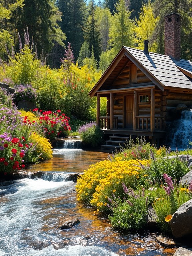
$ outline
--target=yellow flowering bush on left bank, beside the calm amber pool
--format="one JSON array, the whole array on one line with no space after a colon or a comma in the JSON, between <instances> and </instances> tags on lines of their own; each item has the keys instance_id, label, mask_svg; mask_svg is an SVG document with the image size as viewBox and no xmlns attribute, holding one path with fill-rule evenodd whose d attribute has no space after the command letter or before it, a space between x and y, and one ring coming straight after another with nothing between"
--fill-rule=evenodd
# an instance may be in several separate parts
<instances>
[{"instance_id":1,"label":"yellow flowering bush on left bank, beside the calm amber pool","mask_svg":"<svg viewBox=\"0 0 192 256\"><path fill-rule=\"evenodd\" d=\"M43 138L37 133L32 133L30 136L30 140L33 144L36 145L36 153L40 155L42 160L51 159L52 155L52 146L47 138Z\"/></svg>"}]
</instances>

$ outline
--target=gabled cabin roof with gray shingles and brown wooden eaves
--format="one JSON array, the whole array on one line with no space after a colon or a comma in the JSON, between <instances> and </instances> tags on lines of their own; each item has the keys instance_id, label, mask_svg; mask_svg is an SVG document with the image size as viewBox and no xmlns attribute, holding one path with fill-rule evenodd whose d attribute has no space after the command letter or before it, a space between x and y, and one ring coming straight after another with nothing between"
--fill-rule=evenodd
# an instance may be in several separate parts
<instances>
[{"instance_id":1,"label":"gabled cabin roof with gray shingles and brown wooden eaves","mask_svg":"<svg viewBox=\"0 0 192 256\"><path fill-rule=\"evenodd\" d=\"M175 61L169 56L123 46L97 84L89 92L94 96L102 86L110 86L128 61L133 62L162 91L166 87L192 90L192 62ZM168 89L168 88L167 88Z\"/></svg>"}]
</instances>

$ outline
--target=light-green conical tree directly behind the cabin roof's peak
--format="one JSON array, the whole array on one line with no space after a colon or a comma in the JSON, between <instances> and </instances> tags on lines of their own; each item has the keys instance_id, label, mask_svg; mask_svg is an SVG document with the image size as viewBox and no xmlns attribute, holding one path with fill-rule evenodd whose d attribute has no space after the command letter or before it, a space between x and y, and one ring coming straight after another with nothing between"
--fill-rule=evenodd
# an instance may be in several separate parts
<instances>
[{"instance_id":1,"label":"light-green conical tree directly behind the cabin roof's peak","mask_svg":"<svg viewBox=\"0 0 192 256\"><path fill-rule=\"evenodd\" d=\"M112 19L112 27L109 33L109 42L116 53L123 45L133 46L133 26L130 12L127 11L125 6L125 0L120 0L116 5L116 13Z\"/></svg>"}]
</instances>

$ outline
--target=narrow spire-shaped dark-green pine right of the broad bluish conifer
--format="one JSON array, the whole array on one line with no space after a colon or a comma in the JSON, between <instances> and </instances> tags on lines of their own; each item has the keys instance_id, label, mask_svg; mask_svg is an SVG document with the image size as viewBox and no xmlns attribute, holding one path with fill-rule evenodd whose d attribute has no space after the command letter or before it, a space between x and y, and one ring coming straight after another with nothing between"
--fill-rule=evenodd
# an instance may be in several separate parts
<instances>
[{"instance_id":1,"label":"narrow spire-shaped dark-green pine right of the broad bluish conifer","mask_svg":"<svg viewBox=\"0 0 192 256\"><path fill-rule=\"evenodd\" d=\"M89 11L91 14L89 15L87 20L87 27L85 30L85 40L89 45L90 51L92 50L92 46L93 46L95 59L97 60L97 62L99 62L100 53L101 53L101 46L100 46L101 39L100 39L100 33L98 31L98 26L95 20L94 0L90 1L89 8L90 8Z\"/></svg>"}]
</instances>

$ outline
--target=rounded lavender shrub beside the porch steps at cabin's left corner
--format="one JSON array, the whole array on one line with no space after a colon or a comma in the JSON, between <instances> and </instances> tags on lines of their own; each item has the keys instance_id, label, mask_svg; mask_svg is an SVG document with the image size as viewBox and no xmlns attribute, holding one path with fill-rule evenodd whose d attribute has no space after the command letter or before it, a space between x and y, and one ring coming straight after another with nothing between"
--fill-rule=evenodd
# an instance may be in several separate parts
<instances>
[{"instance_id":1,"label":"rounded lavender shrub beside the porch steps at cabin's left corner","mask_svg":"<svg viewBox=\"0 0 192 256\"><path fill-rule=\"evenodd\" d=\"M97 127L95 122L86 123L81 125L78 129L80 137L84 144L95 147L102 143L103 133Z\"/></svg>"}]
</instances>

